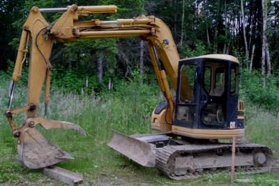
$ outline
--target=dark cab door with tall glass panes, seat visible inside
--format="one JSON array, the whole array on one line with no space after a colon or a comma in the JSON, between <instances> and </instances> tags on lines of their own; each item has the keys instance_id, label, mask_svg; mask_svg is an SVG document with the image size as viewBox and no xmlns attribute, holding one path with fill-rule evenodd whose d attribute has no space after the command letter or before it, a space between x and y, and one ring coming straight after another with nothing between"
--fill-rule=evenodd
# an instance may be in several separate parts
<instances>
[{"instance_id":1,"label":"dark cab door with tall glass panes, seat visible inside","mask_svg":"<svg viewBox=\"0 0 279 186\"><path fill-rule=\"evenodd\" d=\"M199 129L226 128L228 62L204 59L199 102Z\"/></svg>"}]
</instances>

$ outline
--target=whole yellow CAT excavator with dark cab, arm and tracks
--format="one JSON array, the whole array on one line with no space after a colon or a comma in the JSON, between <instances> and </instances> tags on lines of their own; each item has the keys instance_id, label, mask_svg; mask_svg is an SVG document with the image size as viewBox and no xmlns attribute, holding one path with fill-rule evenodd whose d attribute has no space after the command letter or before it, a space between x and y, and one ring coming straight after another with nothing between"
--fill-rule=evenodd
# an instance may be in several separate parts
<instances>
[{"instance_id":1,"label":"whole yellow CAT excavator with dark cab, arm and tracks","mask_svg":"<svg viewBox=\"0 0 279 186\"><path fill-rule=\"evenodd\" d=\"M139 37L148 44L160 91L165 96L151 116L156 134L131 136L112 131L108 144L142 166L156 166L169 178L201 176L232 165L232 143L218 140L244 136L244 103L239 100L239 61L231 55L204 55L180 59L167 25L157 17L140 15L131 19L80 21L96 13L116 13L116 6L31 8L22 27L15 69L10 85L6 117L17 138L17 152L29 169L40 169L73 159L48 141L36 127L86 132L77 124L47 119L50 102L50 55L54 41ZM49 24L42 13L63 12ZM28 55L29 54L29 55ZM13 108L15 85L29 57L27 105ZM170 86L173 90L171 90ZM36 115L45 88L45 117ZM172 92L176 94L173 95ZM13 115L26 113L17 127ZM271 150L259 144L236 144L236 167L242 173L269 171Z\"/></svg>"}]
</instances>

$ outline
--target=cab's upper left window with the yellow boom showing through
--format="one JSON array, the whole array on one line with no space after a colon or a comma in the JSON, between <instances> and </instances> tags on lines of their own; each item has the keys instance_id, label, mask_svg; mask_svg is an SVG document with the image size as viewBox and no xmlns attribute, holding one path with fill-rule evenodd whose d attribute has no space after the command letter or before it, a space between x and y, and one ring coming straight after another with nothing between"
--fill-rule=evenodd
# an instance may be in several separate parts
<instances>
[{"instance_id":1,"label":"cab's upper left window with the yellow boom showing through","mask_svg":"<svg viewBox=\"0 0 279 186\"><path fill-rule=\"evenodd\" d=\"M179 101L185 102L193 99L193 91L195 90L197 63L188 63L181 66L181 85Z\"/></svg>"}]
</instances>

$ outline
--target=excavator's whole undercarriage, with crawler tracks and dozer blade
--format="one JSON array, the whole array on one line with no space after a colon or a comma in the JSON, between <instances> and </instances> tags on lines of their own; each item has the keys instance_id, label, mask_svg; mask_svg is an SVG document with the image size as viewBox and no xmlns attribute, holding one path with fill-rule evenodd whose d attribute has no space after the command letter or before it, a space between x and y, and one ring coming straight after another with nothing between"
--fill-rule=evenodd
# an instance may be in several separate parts
<instances>
[{"instance_id":1,"label":"excavator's whole undercarriage, with crawler tracks and dozer blade","mask_svg":"<svg viewBox=\"0 0 279 186\"><path fill-rule=\"evenodd\" d=\"M123 141L125 145L121 145ZM109 145L143 166L156 166L160 172L175 180L230 173L232 168L232 143L197 140L174 134L126 136L113 131ZM235 152L235 174L271 170L273 154L266 146L236 143ZM146 165L143 162L149 163Z\"/></svg>"}]
</instances>

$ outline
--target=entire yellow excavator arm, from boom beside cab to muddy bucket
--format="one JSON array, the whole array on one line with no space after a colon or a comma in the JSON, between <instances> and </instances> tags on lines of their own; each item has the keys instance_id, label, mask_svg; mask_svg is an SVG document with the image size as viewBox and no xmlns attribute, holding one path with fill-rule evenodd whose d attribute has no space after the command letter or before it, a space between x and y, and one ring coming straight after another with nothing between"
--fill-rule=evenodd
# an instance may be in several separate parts
<instances>
[{"instance_id":1,"label":"entire yellow excavator arm, from boom beside cab to muddy bucket","mask_svg":"<svg viewBox=\"0 0 279 186\"><path fill-rule=\"evenodd\" d=\"M59 11L65 13L54 24L49 24L41 14L41 12ZM169 90L166 73L169 76L172 87L176 90L179 55L169 28L162 20L154 16L146 17L144 15L133 19L78 20L79 16L86 16L90 13L116 13L116 6L73 5L67 8L43 9L33 7L30 10L29 17L27 17L27 21L24 23L10 86L10 99L6 116L13 135L18 138L18 154L24 164L31 169L43 168L72 159L66 152L47 141L35 128L37 124L45 129L73 129L77 133L85 135L85 131L77 124L45 119L47 104L50 101L50 76L52 70L50 55L54 40L69 43L78 39L140 37L142 40L147 41L160 90L167 99L168 123L172 123L174 100ZM24 64L28 53L30 53L30 64L27 106L13 109L15 83L20 80L22 64ZM38 117L36 113L44 83L45 117ZM186 96L191 94L189 85L183 87L183 89L185 89ZM17 127L13 115L21 112L26 112L27 118L20 127Z\"/></svg>"}]
</instances>

